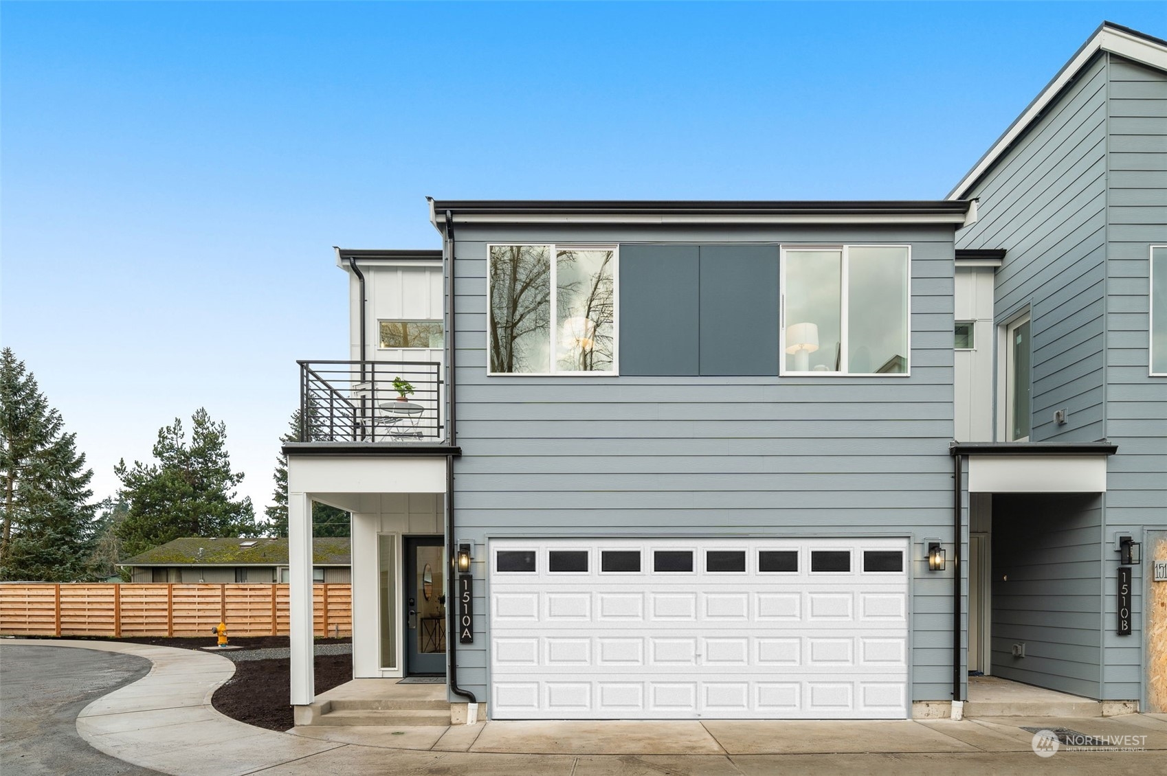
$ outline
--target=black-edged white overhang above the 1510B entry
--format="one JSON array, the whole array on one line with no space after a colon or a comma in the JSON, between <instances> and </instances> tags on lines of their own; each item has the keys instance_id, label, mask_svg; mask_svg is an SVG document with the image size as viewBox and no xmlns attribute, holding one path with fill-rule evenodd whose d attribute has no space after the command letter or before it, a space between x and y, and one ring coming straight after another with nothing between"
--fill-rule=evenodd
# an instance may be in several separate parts
<instances>
[{"instance_id":1,"label":"black-edged white overhang above the 1510B entry","mask_svg":"<svg viewBox=\"0 0 1167 776\"><path fill-rule=\"evenodd\" d=\"M953 442L969 459L970 494L1106 492L1111 442Z\"/></svg>"}]
</instances>

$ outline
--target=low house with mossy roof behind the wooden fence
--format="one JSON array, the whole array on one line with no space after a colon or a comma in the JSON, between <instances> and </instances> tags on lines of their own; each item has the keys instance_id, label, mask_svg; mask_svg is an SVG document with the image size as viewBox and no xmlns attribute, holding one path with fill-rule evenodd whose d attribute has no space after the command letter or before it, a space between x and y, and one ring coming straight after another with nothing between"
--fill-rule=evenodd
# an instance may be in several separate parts
<instances>
[{"instance_id":1,"label":"low house with mossy roof behind the wooden fence","mask_svg":"<svg viewBox=\"0 0 1167 776\"><path fill-rule=\"evenodd\" d=\"M287 539L183 537L118 564L132 582L287 582ZM312 581L348 582L349 540L313 539Z\"/></svg>"}]
</instances>

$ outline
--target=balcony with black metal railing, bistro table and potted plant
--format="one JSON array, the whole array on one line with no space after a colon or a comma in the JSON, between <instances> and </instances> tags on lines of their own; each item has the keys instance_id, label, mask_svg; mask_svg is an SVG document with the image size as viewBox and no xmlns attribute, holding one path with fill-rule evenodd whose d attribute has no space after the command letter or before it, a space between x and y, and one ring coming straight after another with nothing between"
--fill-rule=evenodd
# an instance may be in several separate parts
<instances>
[{"instance_id":1,"label":"balcony with black metal railing, bistro table and potted plant","mask_svg":"<svg viewBox=\"0 0 1167 776\"><path fill-rule=\"evenodd\" d=\"M446 438L442 425L446 393L439 362L296 363L300 365L299 441L432 445Z\"/></svg>"}]
</instances>

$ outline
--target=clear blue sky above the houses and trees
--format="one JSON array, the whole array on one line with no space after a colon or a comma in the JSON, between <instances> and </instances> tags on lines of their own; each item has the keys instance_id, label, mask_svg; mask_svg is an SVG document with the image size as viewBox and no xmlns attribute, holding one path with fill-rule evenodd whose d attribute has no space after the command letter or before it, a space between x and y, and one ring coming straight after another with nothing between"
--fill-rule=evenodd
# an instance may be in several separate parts
<instances>
[{"instance_id":1,"label":"clear blue sky above the houses and trees","mask_svg":"<svg viewBox=\"0 0 1167 776\"><path fill-rule=\"evenodd\" d=\"M268 503L331 245L446 198L942 198L1162 2L0 5L0 342L113 492L205 406Z\"/></svg>"}]
</instances>

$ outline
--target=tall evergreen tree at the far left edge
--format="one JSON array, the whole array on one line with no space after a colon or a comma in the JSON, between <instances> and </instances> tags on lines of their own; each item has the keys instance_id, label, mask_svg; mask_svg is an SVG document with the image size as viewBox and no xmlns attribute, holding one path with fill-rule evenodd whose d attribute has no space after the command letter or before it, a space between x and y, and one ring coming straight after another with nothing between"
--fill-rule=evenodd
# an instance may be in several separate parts
<instances>
[{"instance_id":1,"label":"tall evergreen tree at the far left edge","mask_svg":"<svg viewBox=\"0 0 1167 776\"><path fill-rule=\"evenodd\" d=\"M0 352L0 579L89 578L93 470L64 433L36 378L11 348Z\"/></svg>"}]
</instances>

